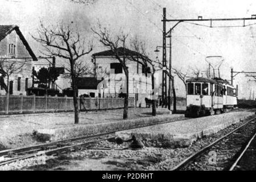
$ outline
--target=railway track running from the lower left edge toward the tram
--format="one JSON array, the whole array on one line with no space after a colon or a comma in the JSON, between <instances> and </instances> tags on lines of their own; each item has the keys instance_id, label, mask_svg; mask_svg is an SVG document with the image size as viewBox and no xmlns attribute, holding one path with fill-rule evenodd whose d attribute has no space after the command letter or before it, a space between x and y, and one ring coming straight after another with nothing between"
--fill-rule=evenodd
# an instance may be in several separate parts
<instances>
[{"instance_id":1,"label":"railway track running from the lower left edge toward the tram","mask_svg":"<svg viewBox=\"0 0 256 182\"><path fill-rule=\"evenodd\" d=\"M237 110L234 110L237 111ZM145 126L159 125L163 123L169 123L174 121L182 121L190 118L180 117L173 119L172 121L162 121L162 122L152 122L146 125L139 125L136 127L131 127L129 129L137 129ZM62 152L72 152L76 150L82 150L90 147L92 144L99 142L101 140L113 139L117 131L123 131L128 129L120 129L115 131L110 131L107 133L101 133L91 136L78 137L66 140L57 140L55 142L49 142L44 144L37 144L30 147L21 147L9 150L0 151L0 166L5 164L17 162L18 160L34 158L40 155L54 155L60 154Z\"/></svg>"}]
</instances>

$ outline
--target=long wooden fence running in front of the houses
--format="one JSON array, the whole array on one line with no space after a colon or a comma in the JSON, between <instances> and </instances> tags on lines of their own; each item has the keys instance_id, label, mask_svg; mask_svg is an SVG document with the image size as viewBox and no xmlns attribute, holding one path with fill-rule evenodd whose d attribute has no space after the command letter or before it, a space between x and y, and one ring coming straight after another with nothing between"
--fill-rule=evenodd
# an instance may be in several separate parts
<instances>
[{"instance_id":1,"label":"long wooden fence running in front of the houses","mask_svg":"<svg viewBox=\"0 0 256 182\"><path fill-rule=\"evenodd\" d=\"M105 110L124 107L124 98L78 98L79 110ZM134 98L129 98L134 107ZM74 111L72 97L0 96L0 114Z\"/></svg>"}]
</instances>

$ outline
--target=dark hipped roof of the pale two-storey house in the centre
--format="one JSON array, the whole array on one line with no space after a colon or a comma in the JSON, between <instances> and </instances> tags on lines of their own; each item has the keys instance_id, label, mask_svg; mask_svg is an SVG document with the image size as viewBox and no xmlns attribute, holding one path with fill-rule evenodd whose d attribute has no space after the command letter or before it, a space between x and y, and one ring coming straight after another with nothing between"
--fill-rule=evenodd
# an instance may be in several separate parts
<instances>
[{"instance_id":1,"label":"dark hipped roof of the pale two-storey house in the centre","mask_svg":"<svg viewBox=\"0 0 256 182\"><path fill-rule=\"evenodd\" d=\"M127 48L123 48L123 47L119 47L117 48L117 53L120 56L137 56L140 55L140 53L135 52L135 51L131 51L130 49ZM102 52L96 52L94 53L92 56L115 56L113 51L111 49L107 50L107 51L102 51Z\"/></svg>"}]
</instances>

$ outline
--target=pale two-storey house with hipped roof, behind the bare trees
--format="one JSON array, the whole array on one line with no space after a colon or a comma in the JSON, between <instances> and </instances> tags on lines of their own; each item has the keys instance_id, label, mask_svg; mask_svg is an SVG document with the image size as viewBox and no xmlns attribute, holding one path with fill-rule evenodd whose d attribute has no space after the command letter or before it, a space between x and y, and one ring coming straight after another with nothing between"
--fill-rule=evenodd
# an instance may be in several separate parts
<instances>
[{"instance_id":1,"label":"pale two-storey house with hipped roof, behind the bare trees","mask_svg":"<svg viewBox=\"0 0 256 182\"><path fill-rule=\"evenodd\" d=\"M117 52L120 57L128 58L137 56L138 53L127 48L119 47ZM95 65L95 77L107 80L107 86L101 86L101 96L118 97L125 86L125 74L120 62L113 55L112 50L97 52L92 55L92 62ZM139 59L137 61L126 60L129 71L129 97L135 98L136 106L145 106L145 98L151 98L152 84L150 68ZM112 70L112 72L111 72ZM99 73L103 73L99 74ZM105 73L105 76L104 76ZM106 79L108 77L108 79Z\"/></svg>"}]
</instances>

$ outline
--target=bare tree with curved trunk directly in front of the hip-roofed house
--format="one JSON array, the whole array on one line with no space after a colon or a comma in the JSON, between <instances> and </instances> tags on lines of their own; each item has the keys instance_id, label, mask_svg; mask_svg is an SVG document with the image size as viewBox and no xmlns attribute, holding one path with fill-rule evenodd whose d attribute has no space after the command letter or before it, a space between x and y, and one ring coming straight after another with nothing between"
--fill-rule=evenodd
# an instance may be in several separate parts
<instances>
[{"instance_id":1,"label":"bare tree with curved trunk directly in front of the hip-roofed house","mask_svg":"<svg viewBox=\"0 0 256 182\"><path fill-rule=\"evenodd\" d=\"M128 34L121 33L119 36L111 37L109 30L107 28L101 28L99 24L98 30L92 31L99 37L99 41L107 48L111 49L113 52L113 57L119 61L121 67L124 69L125 73L125 85L122 90L124 94L124 113L123 118L128 118L128 97L129 97L129 71L127 67L127 60L125 55L125 44L127 42ZM123 49L120 51L119 47ZM124 93L123 92L123 93Z\"/></svg>"}]
</instances>

